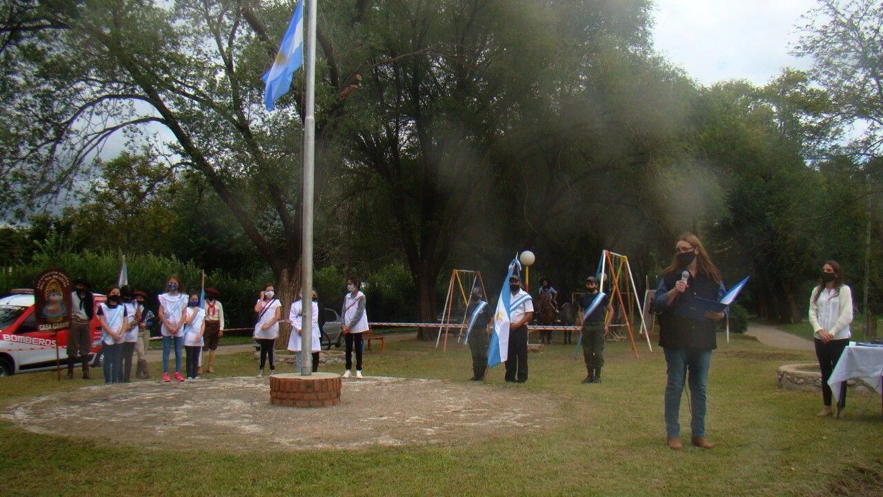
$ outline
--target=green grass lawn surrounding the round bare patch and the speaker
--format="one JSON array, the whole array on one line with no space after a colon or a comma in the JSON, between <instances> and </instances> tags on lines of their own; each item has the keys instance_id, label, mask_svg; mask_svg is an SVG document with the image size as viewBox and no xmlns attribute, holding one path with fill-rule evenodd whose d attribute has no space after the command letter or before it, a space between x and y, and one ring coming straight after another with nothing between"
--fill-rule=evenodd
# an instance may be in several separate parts
<instances>
[{"instance_id":1,"label":"green grass lawn surrounding the round bare patch and the speaker","mask_svg":"<svg viewBox=\"0 0 883 497\"><path fill-rule=\"evenodd\" d=\"M721 342L723 340L720 340ZM449 343L395 341L366 354L370 375L466 381L468 353ZM818 395L781 391L776 368L811 353L766 348L735 336L712 359L707 434L718 447L665 447L661 350L608 345L604 383L581 385L573 348L531 354L530 379L488 383L544 392L562 418L533 432L512 429L467 443L226 454L111 447L100 440L35 434L0 422L0 494L79 495L879 495L883 418L879 397L853 396L844 419L819 419ZM153 364L157 371L158 364ZM290 366L289 366L290 368ZM252 375L249 354L218 356L219 375ZM333 371L343 368L336 365ZM288 372L285 368L282 371ZM97 375L96 375L97 376ZM36 395L83 386L52 372L0 378L0 410ZM93 380L92 385L99 381ZM345 395L345 386L344 386ZM72 416L77 409L72 408ZM334 408L330 408L334 409ZM367 416L382 413L366 412ZM297 430L298 411L291 410ZM683 399L683 440L689 442ZM351 421L358 430L358 419ZM309 436L305 433L304 436Z\"/></svg>"}]
</instances>

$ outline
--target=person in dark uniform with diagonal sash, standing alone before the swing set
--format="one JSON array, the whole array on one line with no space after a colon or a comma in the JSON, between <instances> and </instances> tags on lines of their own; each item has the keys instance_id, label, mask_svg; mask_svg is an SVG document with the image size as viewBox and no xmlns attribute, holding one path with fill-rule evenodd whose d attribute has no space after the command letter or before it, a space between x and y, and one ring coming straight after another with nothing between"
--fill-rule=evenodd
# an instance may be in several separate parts
<instances>
[{"instance_id":1,"label":"person in dark uniform with diagonal sash, standing alone before the swing set","mask_svg":"<svg viewBox=\"0 0 883 497\"><path fill-rule=\"evenodd\" d=\"M585 294L579 296L578 312L579 325L583 328L580 340L583 342L585 370L588 371L583 383L600 383L604 340L610 332L613 304L607 294L599 291L598 279L594 276L585 279Z\"/></svg>"}]
</instances>

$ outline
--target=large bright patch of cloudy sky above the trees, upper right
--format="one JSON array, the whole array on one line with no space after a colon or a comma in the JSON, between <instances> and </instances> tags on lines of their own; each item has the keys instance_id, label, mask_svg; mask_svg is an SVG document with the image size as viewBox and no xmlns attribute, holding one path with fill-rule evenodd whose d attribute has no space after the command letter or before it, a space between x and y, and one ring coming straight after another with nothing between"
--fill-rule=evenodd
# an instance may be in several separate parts
<instances>
[{"instance_id":1,"label":"large bright patch of cloudy sky above the trees, upper right","mask_svg":"<svg viewBox=\"0 0 883 497\"><path fill-rule=\"evenodd\" d=\"M816 0L656 0L657 50L699 83L746 79L764 84L781 67L807 69L789 55L800 17Z\"/></svg>"}]
</instances>

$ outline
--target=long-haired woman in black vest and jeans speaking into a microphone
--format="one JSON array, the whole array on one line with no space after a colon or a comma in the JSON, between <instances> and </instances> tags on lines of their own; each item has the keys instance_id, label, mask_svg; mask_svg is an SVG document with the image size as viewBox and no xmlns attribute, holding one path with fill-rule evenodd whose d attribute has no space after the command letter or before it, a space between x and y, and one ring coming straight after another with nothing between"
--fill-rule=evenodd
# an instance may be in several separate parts
<instances>
[{"instance_id":1,"label":"long-haired woman in black vest and jeans speaking into a microphone","mask_svg":"<svg viewBox=\"0 0 883 497\"><path fill-rule=\"evenodd\" d=\"M692 444L711 448L706 440L706 386L712 350L717 348L718 321L723 312L706 311L704 317L681 316L677 310L696 297L720 300L724 294L721 271L708 258L706 248L692 233L675 245L675 258L662 271L653 299L659 313L660 347L665 351L668 383L665 388L665 424L668 447L682 448L678 412L684 378L689 378ZM688 376L689 373L689 376Z\"/></svg>"}]
</instances>

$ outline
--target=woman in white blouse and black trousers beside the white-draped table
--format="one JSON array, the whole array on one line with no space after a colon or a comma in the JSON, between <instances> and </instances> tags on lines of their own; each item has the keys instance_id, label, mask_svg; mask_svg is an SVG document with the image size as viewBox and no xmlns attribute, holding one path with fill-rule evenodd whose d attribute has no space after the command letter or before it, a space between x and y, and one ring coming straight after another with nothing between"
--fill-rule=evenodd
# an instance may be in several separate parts
<instances>
[{"instance_id":1,"label":"woman in white blouse and black trousers beside the white-draped table","mask_svg":"<svg viewBox=\"0 0 883 497\"><path fill-rule=\"evenodd\" d=\"M827 261L822 266L819 286L813 288L810 298L810 324L815 333L816 357L822 372L822 401L825 406L819 416L831 416L831 378L834 366L849 343L849 323L852 322L852 290L843 285L840 264ZM837 417L846 405L846 390L837 401Z\"/></svg>"}]
</instances>

